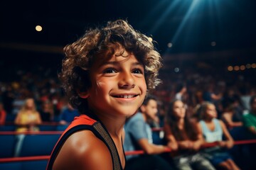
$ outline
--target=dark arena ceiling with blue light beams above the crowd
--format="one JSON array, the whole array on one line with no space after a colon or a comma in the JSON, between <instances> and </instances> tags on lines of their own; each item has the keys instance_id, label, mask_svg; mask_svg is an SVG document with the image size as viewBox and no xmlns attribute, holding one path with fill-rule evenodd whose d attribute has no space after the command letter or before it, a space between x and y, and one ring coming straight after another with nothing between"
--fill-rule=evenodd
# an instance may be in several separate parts
<instances>
[{"instance_id":1,"label":"dark arena ceiling with blue light beams above the crowd","mask_svg":"<svg viewBox=\"0 0 256 170\"><path fill-rule=\"evenodd\" d=\"M9 0L1 1L0 8L1 60L23 57L24 52L60 55L89 26L118 18L151 36L166 63L256 58L255 0Z\"/></svg>"}]
</instances>

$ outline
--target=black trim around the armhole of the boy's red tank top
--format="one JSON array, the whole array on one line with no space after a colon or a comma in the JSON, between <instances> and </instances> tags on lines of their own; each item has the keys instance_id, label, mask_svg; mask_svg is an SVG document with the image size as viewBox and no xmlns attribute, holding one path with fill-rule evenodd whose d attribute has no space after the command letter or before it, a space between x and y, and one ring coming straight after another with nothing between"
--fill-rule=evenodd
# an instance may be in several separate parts
<instances>
[{"instance_id":1,"label":"black trim around the armhole of the boy's red tank top","mask_svg":"<svg viewBox=\"0 0 256 170\"><path fill-rule=\"evenodd\" d=\"M53 153L48 162L47 170L53 169L53 163L55 162L55 158L58 156L58 152L63 146L65 140L67 140L70 135L80 130L90 130L95 134L96 137L102 140L102 142L104 142L110 150L113 170L122 170L122 164L119 158L119 154L117 152L117 147L114 145L114 141L112 140L112 137L110 137L110 133L107 132L106 128L100 122L96 122L93 125L77 125L65 132L65 134L63 135L63 137L61 137L60 141L53 150Z\"/></svg>"}]
</instances>

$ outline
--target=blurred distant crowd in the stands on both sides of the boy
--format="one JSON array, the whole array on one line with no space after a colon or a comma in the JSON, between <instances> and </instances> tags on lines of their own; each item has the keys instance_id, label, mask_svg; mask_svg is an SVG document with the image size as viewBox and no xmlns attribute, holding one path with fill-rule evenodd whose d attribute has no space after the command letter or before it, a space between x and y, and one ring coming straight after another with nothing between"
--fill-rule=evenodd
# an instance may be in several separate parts
<instances>
[{"instance_id":1,"label":"blurred distant crowd in the stands on both sides of the boy","mask_svg":"<svg viewBox=\"0 0 256 170\"><path fill-rule=\"evenodd\" d=\"M7 121L10 115L17 115L27 98L33 98L43 122L60 121L63 109L70 108L57 72L38 68L31 72L17 70L14 79L0 80L0 110L6 112ZM215 104L218 118L223 118L230 126L240 125L235 122L239 122L242 114L249 111L250 96L256 94L253 71L242 74L188 67L184 72L160 72L162 84L151 92L159 98L159 120L164 118L169 102L177 98L186 103L190 116L193 116L198 104L210 101ZM163 122L160 125L163 126Z\"/></svg>"}]
</instances>

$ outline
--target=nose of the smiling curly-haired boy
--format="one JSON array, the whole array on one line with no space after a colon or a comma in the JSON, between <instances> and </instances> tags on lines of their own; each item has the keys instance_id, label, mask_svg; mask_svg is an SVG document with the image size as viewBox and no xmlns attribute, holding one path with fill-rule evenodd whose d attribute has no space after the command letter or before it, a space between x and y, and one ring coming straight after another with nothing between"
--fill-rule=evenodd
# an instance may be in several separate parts
<instances>
[{"instance_id":1,"label":"nose of the smiling curly-haired boy","mask_svg":"<svg viewBox=\"0 0 256 170\"><path fill-rule=\"evenodd\" d=\"M123 74L120 74L120 80L118 85L123 89L134 88L134 77L132 76L131 73L124 72Z\"/></svg>"}]
</instances>

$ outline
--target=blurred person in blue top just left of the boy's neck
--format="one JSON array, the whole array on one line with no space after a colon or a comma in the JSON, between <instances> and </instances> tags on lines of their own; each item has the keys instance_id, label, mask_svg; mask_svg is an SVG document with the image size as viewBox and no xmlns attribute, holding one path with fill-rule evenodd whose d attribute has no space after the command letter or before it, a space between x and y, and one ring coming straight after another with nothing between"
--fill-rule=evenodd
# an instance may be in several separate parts
<instances>
[{"instance_id":1,"label":"blurred person in blue top just left of the boy's neck","mask_svg":"<svg viewBox=\"0 0 256 170\"><path fill-rule=\"evenodd\" d=\"M60 124L68 125L70 124L76 116L79 116L78 110L73 108L70 103L68 103L67 108L64 108L60 113Z\"/></svg>"}]
</instances>

